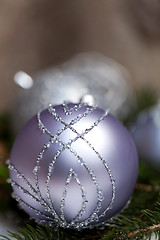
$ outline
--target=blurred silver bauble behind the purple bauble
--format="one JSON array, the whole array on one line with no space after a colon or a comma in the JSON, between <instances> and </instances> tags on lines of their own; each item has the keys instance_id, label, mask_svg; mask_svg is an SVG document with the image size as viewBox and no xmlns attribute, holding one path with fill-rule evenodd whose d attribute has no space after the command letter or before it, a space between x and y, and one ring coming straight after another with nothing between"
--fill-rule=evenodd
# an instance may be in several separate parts
<instances>
[{"instance_id":1,"label":"blurred silver bauble behind the purple bauble","mask_svg":"<svg viewBox=\"0 0 160 240\"><path fill-rule=\"evenodd\" d=\"M68 102L98 105L114 115L126 114L133 90L128 71L99 53L81 53L71 60L40 71L33 77L18 72L14 81L22 88L12 114L17 132L40 108Z\"/></svg>"}]
</instances>

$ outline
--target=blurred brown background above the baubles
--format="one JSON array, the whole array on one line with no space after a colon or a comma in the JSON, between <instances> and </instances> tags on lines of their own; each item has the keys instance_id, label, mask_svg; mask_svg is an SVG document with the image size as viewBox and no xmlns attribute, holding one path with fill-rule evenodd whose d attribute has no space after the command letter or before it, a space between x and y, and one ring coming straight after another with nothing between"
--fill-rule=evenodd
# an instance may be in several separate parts
<instances>
[{"instance_id":1,"label":"blurred brown background above the baubles","mask_svg":"<svg viewBox=\"0 0 160 240\"><path fill-rule=\"evenodd\" d=\"M160 90L158 0L1 0L0 111L30 74L78 52L98 51L127 67L133 86Z\"/></svg>"}]
</instances>

